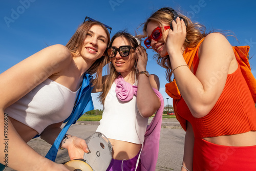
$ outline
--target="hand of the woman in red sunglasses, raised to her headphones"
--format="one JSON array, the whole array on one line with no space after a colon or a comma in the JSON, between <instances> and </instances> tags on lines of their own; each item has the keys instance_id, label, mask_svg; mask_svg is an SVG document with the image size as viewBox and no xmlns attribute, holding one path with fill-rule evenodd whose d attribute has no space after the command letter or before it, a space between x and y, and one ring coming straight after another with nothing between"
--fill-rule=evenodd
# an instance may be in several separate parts
<instances>
[{"instance_id":1,"label":"hand of the woman in red sunglasses, raised to her headphones","mask_svg":"<svg viewBox=\"0 0 256 171\"><path fill-rule=\"evenodd\" d=\"M166 48L170 57L175 56L177 53L182 53L182 47L186 38L186 25L179 17L176 22L172 21L173 30L169 29Z\"/></svg>"}]
</instances>

